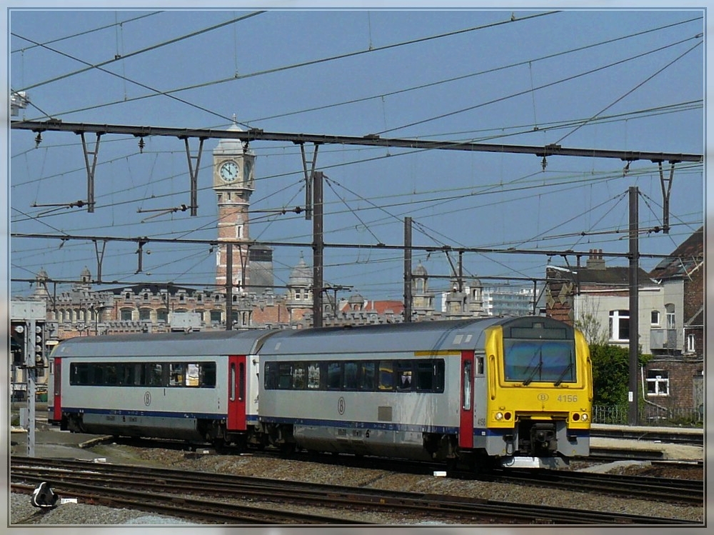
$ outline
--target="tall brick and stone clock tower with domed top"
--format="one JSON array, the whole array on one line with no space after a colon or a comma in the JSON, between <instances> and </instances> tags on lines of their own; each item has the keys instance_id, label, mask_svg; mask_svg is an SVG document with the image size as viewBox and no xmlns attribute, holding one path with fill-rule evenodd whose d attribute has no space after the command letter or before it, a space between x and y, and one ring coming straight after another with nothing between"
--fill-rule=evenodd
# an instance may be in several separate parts
<instances>
[{"instance_id":1,"label":"tall brick and stone clock tower with domed top","mask_svg":"<svg viewBox=\"0 0 714 535\"><path fill-rule=\"evenodd\" d=\"M233 124L228 131L241 131ZM221 241L233 241L233 288L244 290L248 281L248 206L253 185L256 155L240 139L221 139L213 149L213 190L218 201L218 251L216 251L216 284L225 291L227 247ZM235 243L238 242L238 243Z\"/></svg>"}]
</instances>

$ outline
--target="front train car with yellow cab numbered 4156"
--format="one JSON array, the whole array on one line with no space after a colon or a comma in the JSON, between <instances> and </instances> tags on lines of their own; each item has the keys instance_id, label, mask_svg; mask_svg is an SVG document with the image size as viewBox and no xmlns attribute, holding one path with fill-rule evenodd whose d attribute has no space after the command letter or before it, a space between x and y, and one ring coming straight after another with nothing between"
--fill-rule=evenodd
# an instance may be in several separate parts
<instances>
[{"instance_id":1,"label":"front train car with yellow cab numbered 4156","mask_svg":"<svg viewBox=\"0 0 714 535\"><path fill-rule=\"evenodd\" d=\"M482 466L589 453L583 335L538 316L283 331L265 341L273 444Z\"/></svg>"}]
</instances>

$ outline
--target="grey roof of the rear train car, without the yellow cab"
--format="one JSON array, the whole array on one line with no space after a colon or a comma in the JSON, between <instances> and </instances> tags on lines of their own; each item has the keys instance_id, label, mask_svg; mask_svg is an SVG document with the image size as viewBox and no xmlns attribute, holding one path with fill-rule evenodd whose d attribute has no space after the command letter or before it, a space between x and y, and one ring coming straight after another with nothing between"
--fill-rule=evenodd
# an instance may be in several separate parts
<instances>
[{"instance_id":1,"label":"grey roof of the rear train car, without the yellow cab","mask_svg":"<svg viewBox=\"0 0 714 535\"><path fill-rule=\"evenodd\" d=\"M77 336L61 341L52 356L196 356L255 354L261 340L275 331Z\"/></svg>"}]
</instances>

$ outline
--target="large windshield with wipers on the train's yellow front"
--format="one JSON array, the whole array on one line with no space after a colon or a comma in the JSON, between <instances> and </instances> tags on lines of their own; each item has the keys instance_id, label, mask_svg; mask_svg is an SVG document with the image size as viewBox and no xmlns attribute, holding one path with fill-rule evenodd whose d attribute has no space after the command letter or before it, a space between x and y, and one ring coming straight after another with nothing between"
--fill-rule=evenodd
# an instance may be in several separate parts
<instances>
[{"instance_id":1,"label":"large windshield with wipers on the train's yellow front","mask_svg":"<svg viewBox=\"0 0 714 535\"><path fill-rule=\"evenodd\" d=\"M506 381L575 382L575 344L571 340L503 340Z\"/></svg>"}]
</instances>

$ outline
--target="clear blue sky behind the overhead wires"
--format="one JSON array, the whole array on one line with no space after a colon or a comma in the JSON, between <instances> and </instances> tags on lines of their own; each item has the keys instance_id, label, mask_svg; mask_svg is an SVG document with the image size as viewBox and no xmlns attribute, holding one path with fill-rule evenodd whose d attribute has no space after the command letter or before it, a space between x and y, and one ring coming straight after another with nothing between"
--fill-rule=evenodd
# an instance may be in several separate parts
<instances>
[{"instance_id":1,"label":"clear blue sky behind the overhead wires","mask_svg":"<svg viewBox=\"0 0 714 535\"><path fill-rule=\"evenodd\" d=\"M31 6L31 4L24 4ZM252 4L253 6L256 4ZM12 120L242 129L516 146L703 154L705 13L702 9L11 9L8 79L30 103ZM366 5L366 4L361 4ZM198 214L188 204L181 139L102 136L96 210L86 200L79 135L7 134L7 224L12 234L211 240L216 194L207 139L198 169ZM90 148L94 134L87 134ZM191 140L193 151L198 140ZM298 146L253 141L256 189L250 237L274 246L275 284L301 256L312 262ZM308 159L313 146L306 145ZM451 248L483 284L542 279L548 262L574 265L602 249L628 260L628 189L639 191L640 265L650 270L704 221L702 163L675 165L670 232L660 170L651 161L482 151L320 146L326 176L324 279L369 299L401 300L405 217L433 291L450 286ZM670 166L663 166L665 178ZM330 248L329 244L350 244ZM148 250L146 250L148 249ZM105 288L215 281L207 244L154 242L138 271L136 243L109 241ZM51 279L96 276L94 241L10 237L11 295ZM612 254L613 256L608 256ZM615 256L621 255L621 256ZM651 255L651 256L650 256ZM586 255L581 258L584 263ZM510 280L509 280L510 279ZM69 289L59 285L58 291ZM96 289L101 289L96 287ZM279 291L278 291L279 293Z\"/></svg>"}]
</instances>

